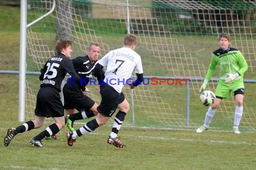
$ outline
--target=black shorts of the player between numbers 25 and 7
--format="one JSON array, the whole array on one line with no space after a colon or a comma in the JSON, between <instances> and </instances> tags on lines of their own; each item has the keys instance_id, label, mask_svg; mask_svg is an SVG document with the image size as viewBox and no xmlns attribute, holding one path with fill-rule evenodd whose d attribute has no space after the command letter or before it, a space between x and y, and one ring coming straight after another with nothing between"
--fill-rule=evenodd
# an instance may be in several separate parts
<instances>
[{"instance_id":1,"label":"black shorts of the player between numbers 25 and 7","mask_svg":"<svg viewBox=\"0 0 256 170\"><path fill-rule=\"evenodd\" d=\"M64 109L89 110L95 104L91 98L84 95L78 85L65 84L62 93L64 96Z\"/></svg>"}]
</instances>

